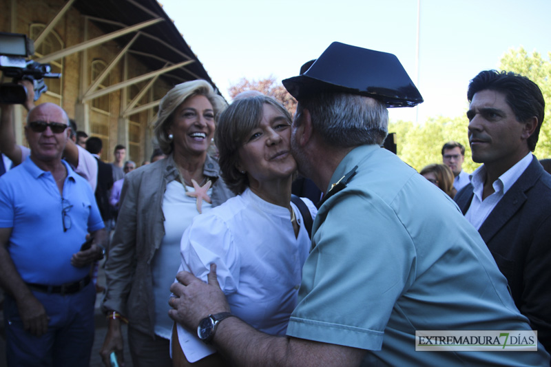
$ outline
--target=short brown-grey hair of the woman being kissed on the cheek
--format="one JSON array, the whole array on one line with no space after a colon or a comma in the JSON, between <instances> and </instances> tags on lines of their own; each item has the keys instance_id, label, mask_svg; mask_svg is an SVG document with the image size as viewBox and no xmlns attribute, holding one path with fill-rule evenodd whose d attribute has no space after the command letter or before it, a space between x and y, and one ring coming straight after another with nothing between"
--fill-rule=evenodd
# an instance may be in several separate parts
<instances>
[{"instance_id":1,"label":"short brown-grey hair of the woman being kissed on the cheek","mask_svg":"<svg viewBox=\"0 0 551 367\"><path fill-rule=\"evenodd\" d=\"M263 116L264 104L271 105L291 123L291 114L275 98L253 96L233 101L218 118L214 141L218 147L218 164L226 185L239 195L249 186L247 173L242 174L237 165L239 148L256 128Z\"/></svg>"}]
</instances>

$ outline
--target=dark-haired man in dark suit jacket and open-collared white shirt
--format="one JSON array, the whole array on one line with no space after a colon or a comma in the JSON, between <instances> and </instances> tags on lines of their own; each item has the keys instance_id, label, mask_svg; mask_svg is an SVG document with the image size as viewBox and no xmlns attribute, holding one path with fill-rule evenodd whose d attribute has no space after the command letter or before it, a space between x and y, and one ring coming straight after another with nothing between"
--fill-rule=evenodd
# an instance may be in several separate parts
<instances>
[{"instance_id":1,"label":"dark-haired man in dark suit jacket and open-collared white shirt","mask_svg":"<svg viewBox=\"0 0 551 367\"><path fill-rule=\"evenodd\" d=\"M530 79L495 70L473 78L467 96L472 160L484 165L455 201L551 351L551 176L531 153L545 101Z\"/></svg>"}]
</instances>

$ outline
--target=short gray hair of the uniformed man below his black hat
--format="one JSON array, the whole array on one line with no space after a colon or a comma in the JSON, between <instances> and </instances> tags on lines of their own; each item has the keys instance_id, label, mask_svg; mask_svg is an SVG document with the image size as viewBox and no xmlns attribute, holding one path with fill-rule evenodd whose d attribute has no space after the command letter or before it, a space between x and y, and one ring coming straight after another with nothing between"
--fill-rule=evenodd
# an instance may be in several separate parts
<instances>
[{"instance_id":1,"label":"short gray hair of the uniformed man below his black hat","mask_svg":"<svg viewBox=\"0 0 551 367\"><path fill-rule=\"evenodd\" d=\"M297 114L308 109L313 128L335 147L382 145L388 134L388 109L377 99L348 93L320 93L301 98ZM295 120L300 120L296 118Z\"/></svg>"}]
</instances>

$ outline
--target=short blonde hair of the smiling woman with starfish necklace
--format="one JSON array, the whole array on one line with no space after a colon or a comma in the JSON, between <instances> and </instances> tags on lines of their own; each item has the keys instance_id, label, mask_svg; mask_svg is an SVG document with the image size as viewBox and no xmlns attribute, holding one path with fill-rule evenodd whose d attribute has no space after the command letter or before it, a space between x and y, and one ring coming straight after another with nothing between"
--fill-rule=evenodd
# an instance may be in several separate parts
<instances>
[{"instance_id":1,"label":"short blonde hair of the smiling woman with starfish necklace","mask_svg":"<svg viewBox=\"0 0 551 367\"><path fill-rule=\"evenodd\" d=\"M187 98L191 98L193 96L207 97L212 105L212 108L214 109L215 120L216 116L218 116L218 114L227 106L224 98L216 94L213 87L207 81L203 81L201 79L178 84L169 90L166 96L160 100L157 120L154 124L154 134L157 140L156 143L166 155L171 154L174 149L174 143L168 138L168 129L174 121L174 113L176 112L176 109L178 109L178 107L187 100Z\"/></svg>"}]
</instances>

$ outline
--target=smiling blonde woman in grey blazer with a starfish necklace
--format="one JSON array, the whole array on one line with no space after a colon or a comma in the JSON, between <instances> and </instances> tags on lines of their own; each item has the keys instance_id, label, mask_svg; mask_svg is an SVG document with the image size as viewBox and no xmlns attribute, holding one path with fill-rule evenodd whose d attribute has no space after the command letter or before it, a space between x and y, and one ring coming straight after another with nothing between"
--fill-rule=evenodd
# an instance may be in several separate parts
<instances>
[{"instance_id":1,"label":"smiling blonde woman in grey blazer with a starfish necklace","mask_svg":"<svg viewBox=\"0 0 551 367\"><path fill-rule=\"evenodd\" d=\"M194 217L233 193L207 155L215 117L226 107L206 81L176 85L160 102L155 136L166 158L129 173L105 264L103 310L109 329L101 355L123 359L121 321L128 323L134 367L170 366L169 287L180 266L180 240Z\"/></svg>"}]
</instances>

